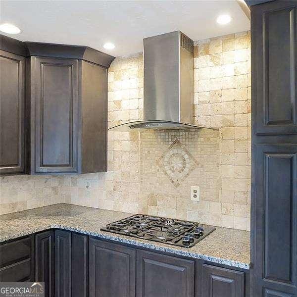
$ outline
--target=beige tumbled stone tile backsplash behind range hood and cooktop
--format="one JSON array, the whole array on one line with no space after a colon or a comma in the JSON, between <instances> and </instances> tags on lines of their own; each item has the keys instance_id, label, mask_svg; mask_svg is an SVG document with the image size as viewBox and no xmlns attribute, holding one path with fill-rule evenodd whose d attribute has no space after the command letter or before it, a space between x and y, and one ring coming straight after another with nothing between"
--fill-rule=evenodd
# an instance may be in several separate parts
<instances>
[{"instance_id":1,"label":"beige tumbled stone tile backsplash behind range hood and cooktop","mask_svg":"<svg viewBox=\"0 0 297 297\"><path fill-rule=\"evenodd\" d=\"M195 42L194 55L195 123L215 130L110 131L108 172L1 177L0 213L67 202L249 230L249 32ZM143 55L118 57L108 126L141 119Z\"/></svg>"}]
</instances>

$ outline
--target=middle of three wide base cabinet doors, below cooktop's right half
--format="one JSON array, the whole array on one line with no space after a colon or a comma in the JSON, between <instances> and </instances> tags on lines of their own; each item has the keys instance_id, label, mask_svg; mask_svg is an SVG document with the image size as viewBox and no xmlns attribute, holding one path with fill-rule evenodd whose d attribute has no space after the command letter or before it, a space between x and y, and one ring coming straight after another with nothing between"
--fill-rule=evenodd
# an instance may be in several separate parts
<instances>
[{"instance_id":1,"label":"middle of three wide base cabinet doors, below cooktop's right half","mask_svg":"<svg viewBox=\"0 0 297 297\"><path fill-rule=\"evenodd\" d=\"M195 261L137 250L137 297L194 297Z\"/></svg>"}]
</instances>

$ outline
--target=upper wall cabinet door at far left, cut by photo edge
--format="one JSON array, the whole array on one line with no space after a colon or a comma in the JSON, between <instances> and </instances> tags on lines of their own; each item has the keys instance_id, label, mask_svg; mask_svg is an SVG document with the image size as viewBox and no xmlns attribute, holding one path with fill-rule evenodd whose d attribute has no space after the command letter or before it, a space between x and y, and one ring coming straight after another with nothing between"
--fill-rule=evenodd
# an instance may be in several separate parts
<instances>
[{"instance_id":1,"label":"upper wall cabinet door at far left, cut by photo edge","mask_svg":"<svg viewBox=\"0 0 297 297\"><path fill-rule=\"evenodd\" d=\"M0 174L25 171L25 58L0 50Z\"/></svg>"}]
</instances>

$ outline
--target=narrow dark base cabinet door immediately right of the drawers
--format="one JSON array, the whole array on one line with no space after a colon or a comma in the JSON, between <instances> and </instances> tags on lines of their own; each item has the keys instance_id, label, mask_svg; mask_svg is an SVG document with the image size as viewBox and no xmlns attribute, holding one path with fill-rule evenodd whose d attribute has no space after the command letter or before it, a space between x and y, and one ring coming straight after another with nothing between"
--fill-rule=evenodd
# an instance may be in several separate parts
<instances>
[{"instance_id":1,"label":"narrow dark base cabinet door immediately right of the drawers","mask_svg":"<svg viewBox=\"0 0 297 297\"><path fill-rule=\"evenodd\" d=\"M54 297L54 232L35 235L35 280L45 282L45 297Z\"/></svg>"}]
</instances>

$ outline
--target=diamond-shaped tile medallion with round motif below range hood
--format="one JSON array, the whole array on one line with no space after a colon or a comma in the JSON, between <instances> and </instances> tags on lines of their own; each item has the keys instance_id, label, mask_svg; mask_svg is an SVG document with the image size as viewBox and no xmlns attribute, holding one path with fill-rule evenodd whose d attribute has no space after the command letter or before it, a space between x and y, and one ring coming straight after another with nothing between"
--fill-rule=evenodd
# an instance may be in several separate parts
<instances>
[{"instance_id":1,"label":"diamond-shaped tile medallion with round motif below range hood","mask_svg":"<svg viewBox=\"0 0 297 297\"><path fill-rule=\"evenodd\" d=\"M176 139L157 160L157 165L177 188L198 166L198 162Z\"/></svg>"}]
</instances>

